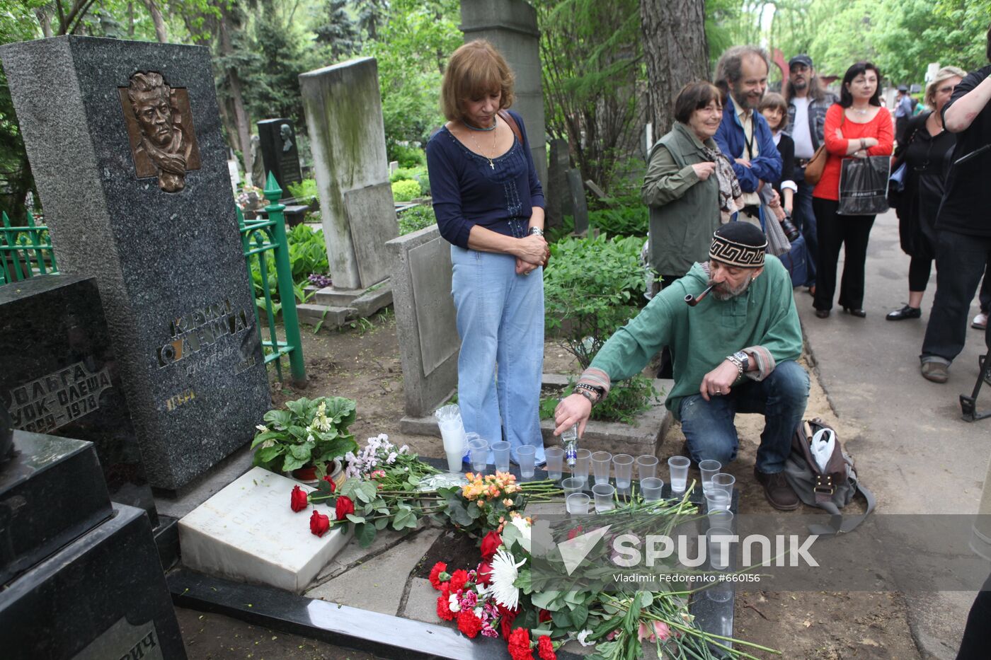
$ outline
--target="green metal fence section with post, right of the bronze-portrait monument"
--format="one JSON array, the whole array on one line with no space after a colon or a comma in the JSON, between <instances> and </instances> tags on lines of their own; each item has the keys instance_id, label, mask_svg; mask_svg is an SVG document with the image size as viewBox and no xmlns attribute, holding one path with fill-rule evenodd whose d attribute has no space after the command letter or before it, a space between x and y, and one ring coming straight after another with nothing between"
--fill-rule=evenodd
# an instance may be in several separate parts
<instances>
[{"instance_id":1,"label":"green metal fence section with post, right of the bronze-portrait monument","mask_svg":"<svg viewBox=\"0 0 991 660\"><path fill-rule=\"evenodd\" d=\"M264 190L271 202L265 207L269 217L265 220L245 220L238 209L238 224L241 226L241 244L244 247L245 264L252 282L252 295L256 298L255 323L266 349L265 361L275 361L278 380L282 380L282 366L279 358L288 356L289 373L296 384L306 382L306 367L303 363L302 345L299 339L299 318L296 315L295 290L292 286L292 268L289 264L289 245L285 237L285 206L278 203L282 190L269 173ZM271 254L268 254L271 253ZM269 258L272 258L271 260ZM257 270L253 268L257 267ZM272 296L272 268L275 266L275 285L278 302ZM262 295L257 295L261 292ZM265 323L259 316L259 308L265 312ZM279 341L276 333L275 316L282 313L284 341ZM266 331L269 338L266 339Z\"/></svg>"}]
</instances>

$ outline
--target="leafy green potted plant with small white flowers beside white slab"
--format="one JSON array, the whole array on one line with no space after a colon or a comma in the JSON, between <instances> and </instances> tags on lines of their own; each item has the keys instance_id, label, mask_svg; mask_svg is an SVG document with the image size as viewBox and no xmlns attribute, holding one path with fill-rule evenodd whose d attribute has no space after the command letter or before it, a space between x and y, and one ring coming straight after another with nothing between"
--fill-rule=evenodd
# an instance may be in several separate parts
<instances>
[{"instance_id":1,"label":"leafy green potted plant with small white flowers beside white slab","mask_svg":"<svg viewBox=\"0 0 991 660\"><path fill-rule=\"evenodd\" d=\"M276 473L292 473L302 482L330 475L343 481L341 457L355 452L358 444L348 427L355 421L356 404L343 396L297 398L284 410L265 413L252 442L254 464Z\"/></svg>"}]
</instances>

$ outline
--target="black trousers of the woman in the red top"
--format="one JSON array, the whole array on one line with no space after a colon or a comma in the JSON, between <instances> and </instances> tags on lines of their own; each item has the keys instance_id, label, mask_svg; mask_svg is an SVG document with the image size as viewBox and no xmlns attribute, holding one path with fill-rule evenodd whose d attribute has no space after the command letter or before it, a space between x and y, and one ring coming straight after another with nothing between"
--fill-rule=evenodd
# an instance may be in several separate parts
<instances>
[{"instance_id":1,"label":"black trousers of the woman in the red top","mask_svg":"<svg viewBox=\"0 0 991 660\"><path fill-rule=\"evenodd\" d=\"M874 226L873 215L836 215L839 202L813 197L816 230L819 237L819 265L816 271L816 309L832 309L836 292L836 265L843 248L843 277L839 284L839 306L860 309L864 303L864 264L867 242Z\"/></svg>"}]
</instances>

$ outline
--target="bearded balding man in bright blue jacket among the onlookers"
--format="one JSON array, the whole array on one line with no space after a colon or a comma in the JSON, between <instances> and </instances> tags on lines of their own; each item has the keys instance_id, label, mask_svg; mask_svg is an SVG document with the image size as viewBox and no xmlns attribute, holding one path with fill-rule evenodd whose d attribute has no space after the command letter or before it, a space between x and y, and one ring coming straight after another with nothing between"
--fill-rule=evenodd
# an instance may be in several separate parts
<instances>
[{"instance_id":1,"label":"bearded balding man in bright blue jacket among the onlookers","mask_svg":"<svg viewBox=\"0 0 991 660\"><path fill-rule=\"evenodd\" d=\"M757 218L758 192L781 178L781 155L767 120L757 111L767 90L767 53L756 46L734 46L719 57L716 86L722 90L722 123L716 131L719 151L733 163L743 190L742 213Z\"/></svg>"}]
</instances>

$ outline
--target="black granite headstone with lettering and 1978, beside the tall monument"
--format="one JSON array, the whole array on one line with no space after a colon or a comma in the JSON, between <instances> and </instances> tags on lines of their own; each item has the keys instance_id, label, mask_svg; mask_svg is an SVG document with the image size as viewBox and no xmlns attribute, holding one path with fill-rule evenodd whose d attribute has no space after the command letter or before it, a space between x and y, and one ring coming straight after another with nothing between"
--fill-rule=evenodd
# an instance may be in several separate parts
<instances>
[{"instance_id":1,"label":"black granite headstone with lettering and 1978, beside the tall monument","mask_svg":"<svg viewBox=\"0 0 991 660\"><path fill-rule=\"evenodd\" d=\"M0 286L0 406L25 431L88 440L110 498L158 513L131 423L96 279Z\"/></svg>"}]
</instances>

